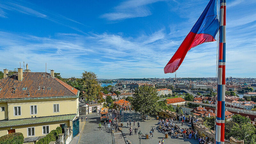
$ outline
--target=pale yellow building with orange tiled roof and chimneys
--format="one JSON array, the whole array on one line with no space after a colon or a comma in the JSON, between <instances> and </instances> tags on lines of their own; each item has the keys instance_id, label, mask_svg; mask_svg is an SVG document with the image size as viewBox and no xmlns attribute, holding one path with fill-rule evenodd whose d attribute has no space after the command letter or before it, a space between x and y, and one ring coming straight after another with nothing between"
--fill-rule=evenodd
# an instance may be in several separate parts
<instances>
[{"instance_id":1,"label":"pale yellow building with orange tiled roof and chimneys","mask_svg":"<svg viewBox=\"0 0 256 144\"><path fill-rule=\"evenodd\" d=\"M0 136L21 132L24 142L35 141L62 127L76 136L79 132L79 91L46 72L23 72L0 80Z\"/></svg>"}]
</instances>

